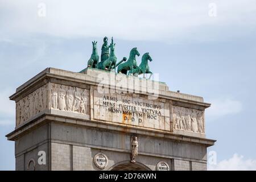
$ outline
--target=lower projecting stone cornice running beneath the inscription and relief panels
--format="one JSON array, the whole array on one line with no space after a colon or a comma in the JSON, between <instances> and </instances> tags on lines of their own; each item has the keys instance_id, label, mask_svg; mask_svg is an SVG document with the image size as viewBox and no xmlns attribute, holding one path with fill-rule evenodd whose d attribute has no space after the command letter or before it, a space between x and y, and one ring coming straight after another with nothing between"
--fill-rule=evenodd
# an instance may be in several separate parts
<instances>
[{"instance_id":1,"label":"lower projecting stone cornice running beneath the inscription and relief panels","mask_svg":"<svg viewBox=\"0 0 256 182\"><path fill-rule=\"evenodd\" d=\"M73 119L67 117L61 117L60 115L53 114L42 114L36 118L28 120L23 125L20 125L11 133L7 134L6 137L8 140L15 140L20 135L26 134L28 131L33 130L35 127L43 125L46 122L59 122L68 125L79 125L84 127L92 127L100 130L109 130L112 132L122 132L122 133L131 133L136 135L143 135L149 137L158 137L164 139L174 140L176 142L185 142L185 143L197 143L203 144L207 147L213 146L216 140L199 138L199 137L189 137L185 135L173 134L167 131L159 131L154 129L146 129L143 127L133 127L133 126L122 126L115 123L102 122L102 121L89 121L84 119Z\"/></svg>"}]
</instances>

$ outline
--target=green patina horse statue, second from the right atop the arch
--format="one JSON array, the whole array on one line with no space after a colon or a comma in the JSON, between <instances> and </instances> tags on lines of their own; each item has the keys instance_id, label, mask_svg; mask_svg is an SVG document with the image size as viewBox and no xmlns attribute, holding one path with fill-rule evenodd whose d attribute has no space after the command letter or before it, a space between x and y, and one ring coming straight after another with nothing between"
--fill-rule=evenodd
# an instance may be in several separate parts
<instances>
[{"instance_id":1,"label":"green patina horse statue, second from the right atop the arch","mask_svg":"<svg viewBox=\"0 0 256 182\"><path fill-rule=\"evenodd\" d=\"M128 71L138 68L137 61L135 59L136 55L139 56L139 51L135 47L131 49L129 59L125 63L118 65L117 72L127 75Z\"/></svg>"}]
</instances>

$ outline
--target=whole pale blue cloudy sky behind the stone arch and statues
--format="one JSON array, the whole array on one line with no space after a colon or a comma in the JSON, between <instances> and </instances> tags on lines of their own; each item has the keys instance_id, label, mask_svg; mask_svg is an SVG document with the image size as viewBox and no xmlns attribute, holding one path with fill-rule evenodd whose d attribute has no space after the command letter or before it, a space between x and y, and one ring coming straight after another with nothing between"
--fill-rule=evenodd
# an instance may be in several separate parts
<instances>
[{"instance_id":1,"label":"whole pale blue cloudy sky behind the stone arch and statues","mask_svg":"<svg viewBox=\"0 0 256 182\"><path fill-rule=\"evenodd\" d=\"M92 40L100 51L113 36L118 59L133 47L150 52L160 81L212 103L208 169L255 170L255 17L255 0L0 0L0 169L15 169L9 96L47 67L81 71Z\"/></svg>"}]
</instances>

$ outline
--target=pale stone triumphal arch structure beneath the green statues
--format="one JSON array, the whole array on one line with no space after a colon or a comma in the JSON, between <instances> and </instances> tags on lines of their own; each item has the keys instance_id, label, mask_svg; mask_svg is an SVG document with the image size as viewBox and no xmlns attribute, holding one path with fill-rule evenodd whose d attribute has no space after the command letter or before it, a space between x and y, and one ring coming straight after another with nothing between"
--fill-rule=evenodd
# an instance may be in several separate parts
<instances>
[{"instance_id":1,"label":"pale stone triumphal arch structure beneath the green statues","mask_svg":"<svg viewBox=\"0 0 256 182\"><path fill-rule=\"evenodd\" d=\"M15 141L16 170L31 163L35 170L156 170L159 162L170 170L206 170L207 147L215 142L205 138L210 104L202 97L121 73L47 68L10 99L16 127L6 136ZM131 164L133 136L138 151ZM97 158L97 167L99 152L106 158Z\"/></svg>"}]
</instances>

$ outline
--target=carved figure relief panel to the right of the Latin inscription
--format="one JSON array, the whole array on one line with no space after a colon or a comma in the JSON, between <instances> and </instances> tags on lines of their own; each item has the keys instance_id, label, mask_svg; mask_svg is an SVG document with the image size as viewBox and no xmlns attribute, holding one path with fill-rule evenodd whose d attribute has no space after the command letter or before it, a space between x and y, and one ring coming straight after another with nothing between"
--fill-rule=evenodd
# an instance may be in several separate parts
<instances>
[{"instance_id":1,"label":"carved figure relief panel to the right of the Latin inscription","mask_svg":"<svg viewBox=\"0 0 256 182\"><path fill-rule=\"evenodd\" d=\"M204 111L174 106L172 121L174 129L204 134Z\"/></svg>"}]
</instances>

